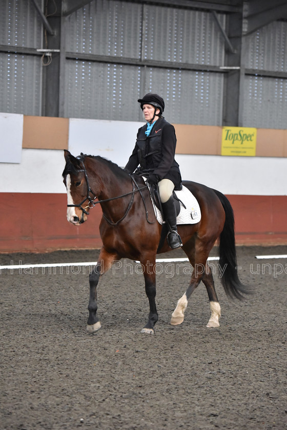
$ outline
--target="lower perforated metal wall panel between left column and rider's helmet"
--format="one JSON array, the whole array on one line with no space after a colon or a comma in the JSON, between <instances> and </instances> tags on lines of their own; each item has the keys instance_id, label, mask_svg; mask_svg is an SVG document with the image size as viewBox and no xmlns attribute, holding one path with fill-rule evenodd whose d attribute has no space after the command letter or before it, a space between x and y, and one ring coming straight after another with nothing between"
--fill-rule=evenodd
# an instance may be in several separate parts
<instances>
[{"instance_id":1,"label":"lower perforated metal wall panel between left column and rider's helmet","mask_svg":"<svg viewBox=\"0 0 287 430\"><path fill-rule=\"evenodd\" d=\"M66 117L138 120L138 67L67 60L66 76Z\"/></svg>"}]
</instances>

